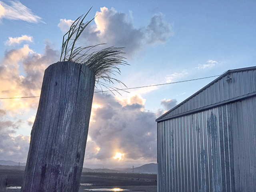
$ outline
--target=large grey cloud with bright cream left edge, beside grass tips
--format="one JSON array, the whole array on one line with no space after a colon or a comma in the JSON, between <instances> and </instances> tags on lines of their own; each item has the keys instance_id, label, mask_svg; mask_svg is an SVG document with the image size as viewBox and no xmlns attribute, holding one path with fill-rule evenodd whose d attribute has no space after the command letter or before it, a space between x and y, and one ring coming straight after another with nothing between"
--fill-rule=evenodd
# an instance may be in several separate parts
<instances>
[{"instance_id":1,"label":"large grey cloud with bright cream left edge, beside grass tips","mask_svg":"<svg viewBox=\"0 0 256 192\"><path fill-rule=\"evenodd\" d=\"M128 56L142 48L144 32L134 28L126 14L117 12L114 8L100 8L96 12L95 25L85 30L83 38L90 45L106 43L107 46L124 47Z\"/></svg>"}]
</instances>

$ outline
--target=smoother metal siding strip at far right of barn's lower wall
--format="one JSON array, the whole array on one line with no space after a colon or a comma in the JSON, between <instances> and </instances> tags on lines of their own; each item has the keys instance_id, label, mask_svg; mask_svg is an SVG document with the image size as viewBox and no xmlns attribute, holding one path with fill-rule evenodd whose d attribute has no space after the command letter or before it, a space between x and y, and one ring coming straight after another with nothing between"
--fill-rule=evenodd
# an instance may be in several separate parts
<instances>
[{"instance_id":1,"label":"smoother metal siding strip at far right of barn's lower wall","mask_svg":"<svg viewBox=\"0 0 256 192\"><path fill-rule=\"evenodd\" d=\"M235 191L256 191L256 97L231 106Z\"/></svg>"}]
</instances>

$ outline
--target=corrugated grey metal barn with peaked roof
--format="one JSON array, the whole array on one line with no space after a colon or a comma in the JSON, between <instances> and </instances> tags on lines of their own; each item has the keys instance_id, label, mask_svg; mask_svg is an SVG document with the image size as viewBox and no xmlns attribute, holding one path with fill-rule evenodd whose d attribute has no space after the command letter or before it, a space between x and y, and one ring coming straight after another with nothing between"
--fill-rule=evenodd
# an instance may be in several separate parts
<instances>
[{"instance_id":1,"label":"corrugated grey metal barn with peaked roof","mask_svg":"<svg viewBox=\"0 0 256 192\"><path fill-rule=\"evenodd\" d=\"M256 67L228 70L156 122L158 192L256 191Z\"/></svg>"}]
</instances>

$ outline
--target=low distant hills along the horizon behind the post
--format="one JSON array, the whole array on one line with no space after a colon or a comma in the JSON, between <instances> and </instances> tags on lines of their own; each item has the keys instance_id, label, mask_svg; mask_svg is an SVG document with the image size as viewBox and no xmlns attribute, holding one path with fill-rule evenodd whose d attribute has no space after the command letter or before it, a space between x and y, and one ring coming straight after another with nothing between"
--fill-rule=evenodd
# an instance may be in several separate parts
<instances>
[{"instance_id":1,"label":"low distant hills along the horizon behind the post","mask_svg":"<svg viewBox=\"0 0 256 192\"><path fill-rule=\"evenodd\" d=\"M0 168L7 168L8 169L25 169L26 163L19 163L14 161L5 161L0 160ZM107 173L149 173L149 174L156 174L157 173L157 164L150 163L145 164L140 167L132 168L114 168L114 169L89 169L83 168L83 172L107 172Z\"/></svg>"}]
</instances>

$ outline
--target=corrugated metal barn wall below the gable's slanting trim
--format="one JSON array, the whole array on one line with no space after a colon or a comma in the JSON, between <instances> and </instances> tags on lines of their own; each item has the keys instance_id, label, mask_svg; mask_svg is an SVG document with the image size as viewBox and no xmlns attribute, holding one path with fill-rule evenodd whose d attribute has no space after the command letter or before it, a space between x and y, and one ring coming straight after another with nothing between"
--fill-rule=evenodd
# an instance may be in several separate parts
<instances>
[{"instance_id":1,"label":"corrugated metal barn wall below the gable's slanting trim","mask_svg":"<svg viewBox=\"0 0 256 192\"><path fill-rule=\"evenodd\" d=\"M158 192L256 191L255 116L252 97L158 122Z\"/></svg>"}]
</instances>

